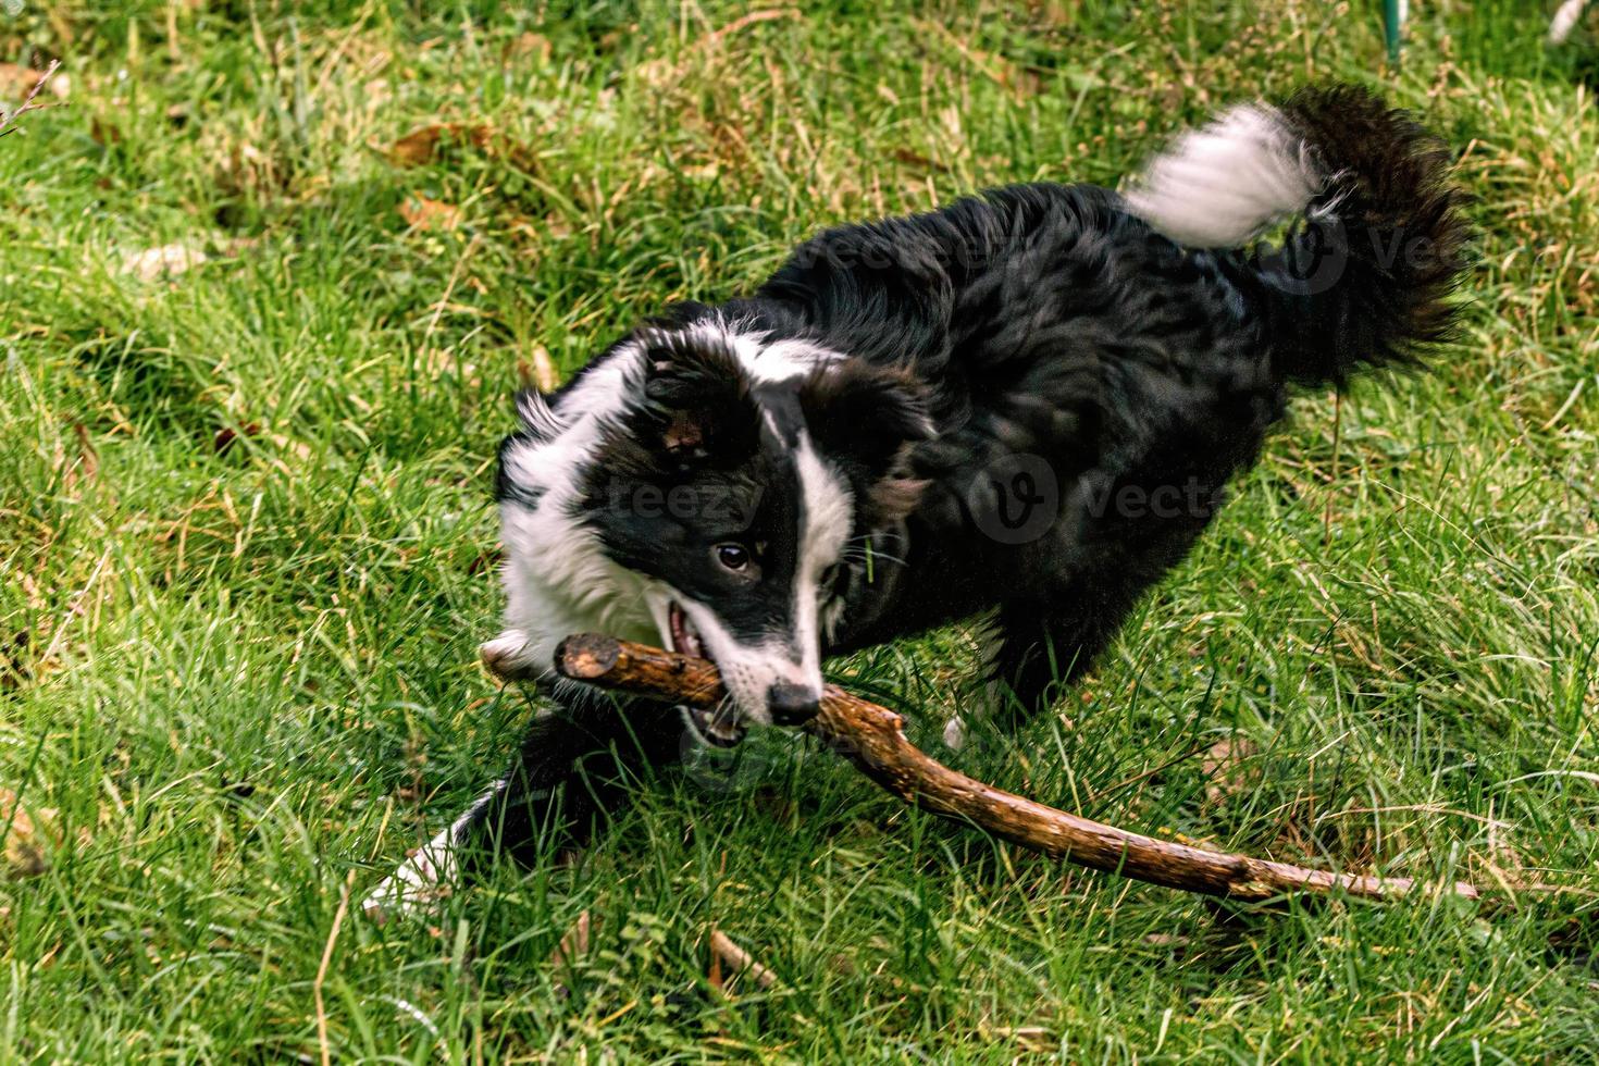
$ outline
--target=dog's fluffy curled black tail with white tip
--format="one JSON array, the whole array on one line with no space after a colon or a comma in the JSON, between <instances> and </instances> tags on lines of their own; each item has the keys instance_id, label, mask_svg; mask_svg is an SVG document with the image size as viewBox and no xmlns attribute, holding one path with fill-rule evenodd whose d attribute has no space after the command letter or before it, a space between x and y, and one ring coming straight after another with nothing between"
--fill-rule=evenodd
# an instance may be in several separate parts
<instances>
[{"instance_id":1,"label":"dog's fluffy curled black tail with white tip","mask_svg":"<svg viewBox=\"0 0 1599 1066\"><path fill-rule=\"evenodd\" d=\"M1452 332L1469 227L1447 171L1409 113L1361 88L1311 88L1183 134L1126 201L1194 248L1238 248L1300 216L1281 248L1244 262L1276 371L1342 385L1362 364L1414 364Z\"/></svg>"}]
</instances>

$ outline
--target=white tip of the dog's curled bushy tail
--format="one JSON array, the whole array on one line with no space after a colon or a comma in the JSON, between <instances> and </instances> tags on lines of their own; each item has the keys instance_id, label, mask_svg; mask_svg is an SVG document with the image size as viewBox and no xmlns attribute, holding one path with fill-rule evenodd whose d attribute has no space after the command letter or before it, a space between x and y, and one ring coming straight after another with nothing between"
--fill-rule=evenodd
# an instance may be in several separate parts
<instances>
[{"instance_id":1,"label":"white tip of the dog's curled bushy tail","mask_svg":"<svg viewBox=\"0 0 1599 1066\"><path fill-rule=\"evenodd\" d=\"M1193 248L1236 248L1303 211L1322 177L1276 109L1244 104L1150 161L1127 209Z\"/></svg>"}]
</instances>

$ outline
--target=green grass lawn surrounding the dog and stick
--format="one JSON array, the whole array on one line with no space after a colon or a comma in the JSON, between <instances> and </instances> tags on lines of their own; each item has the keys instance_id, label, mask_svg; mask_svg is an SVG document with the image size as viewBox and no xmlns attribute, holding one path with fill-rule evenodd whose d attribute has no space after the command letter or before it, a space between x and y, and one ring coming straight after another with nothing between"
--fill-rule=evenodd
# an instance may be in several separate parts
<instances>
[{"instance_id":1,"label":"green grass lawn surrounding the dog and stick","mask_svg":"<svg viewBox=\"0 0 1599 1066\"><path fill-rule=\"evenodd\" d=\"M339 1061L1594 1058L1591 37L1417 5L1393 72L1375 3L328 6L0 14L0 59L70 77L0 139L0 1060L317 1061L329 945ZM1460 149L1463 344L1305 396L1060 714L958 762L1217 847L1569 892L1217 908L768 737L580 861L333 935L529 713L473 655L520 366L823 224L1115 182L1311 77ZM125 268L166 245L208 259ZM931 742L972 666L948 631L833 673ZM552 965L582 911L592 951ZM780 984L715 992L713 924Z\"/></svg>"}]
</instances>

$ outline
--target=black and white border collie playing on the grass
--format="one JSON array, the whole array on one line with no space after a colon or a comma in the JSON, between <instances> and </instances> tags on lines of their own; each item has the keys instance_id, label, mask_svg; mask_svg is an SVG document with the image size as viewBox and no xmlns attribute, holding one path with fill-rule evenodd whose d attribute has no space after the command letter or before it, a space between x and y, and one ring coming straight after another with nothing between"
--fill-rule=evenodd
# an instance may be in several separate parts
<instances>
[{"instance_id":1,"label":"black and white border collie playing on the grass","mask_svg":"<svg viewBox=\"0 0 1599 1066\"><path fill-rule=\"evenodd\" d=\"M828 655L980 620L979 710L1049 706L1188 553L1290 385L1447 339L1468 240L1447 168L1358 88L1246 104L1124 195L1012 185L828 230L752 296L675 307L523 393L483 655L553 710L368 905L416 903L457 853L582 833L686 740L803 722ZM729 698L670 714L556 681L579 631L704 655Z\"/></svg>"}]
</instances>

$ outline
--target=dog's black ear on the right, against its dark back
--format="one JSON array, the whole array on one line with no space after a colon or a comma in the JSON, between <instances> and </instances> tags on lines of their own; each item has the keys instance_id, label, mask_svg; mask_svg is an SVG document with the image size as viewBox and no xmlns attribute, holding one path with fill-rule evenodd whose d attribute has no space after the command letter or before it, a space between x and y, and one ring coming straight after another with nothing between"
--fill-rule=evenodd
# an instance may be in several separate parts
<instances>
[{"instance_id":1,"label":"dog's black ear on the right, against its dark back","mask_svg":"<svg viewBox=\"0 0 1599 1066\"><path fill-rule=\"evenodd\" d=\"M812 374L800 390L800 406L811 440L873 473L894 467L907 444L934 435L926 387L902 369L860 360Z\"/></svg>"}]
</instances>

